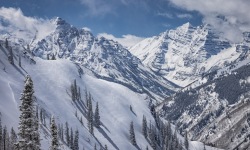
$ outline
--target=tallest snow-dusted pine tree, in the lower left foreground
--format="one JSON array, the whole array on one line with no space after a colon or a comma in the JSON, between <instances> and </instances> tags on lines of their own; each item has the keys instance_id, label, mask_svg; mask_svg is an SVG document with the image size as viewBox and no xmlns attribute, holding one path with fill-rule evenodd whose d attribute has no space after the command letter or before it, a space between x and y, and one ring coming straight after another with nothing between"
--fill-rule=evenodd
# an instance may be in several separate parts
<instances>
[{"instance_id":1,"label":"tallest snow-dusted pine tree, in the lower left foreground","mask_svg":"<svg viewBox=\"0 0 250 150\"><path fill-rule=\"evenodd\" d=\"M39 134L35 125L35 111L33 100L33 81L29 75L26 76L24 90L21 96L20 120L19 120L19 141L16 144L19 150L37 150L35 136Z\"/></svg>"}]
</instances>

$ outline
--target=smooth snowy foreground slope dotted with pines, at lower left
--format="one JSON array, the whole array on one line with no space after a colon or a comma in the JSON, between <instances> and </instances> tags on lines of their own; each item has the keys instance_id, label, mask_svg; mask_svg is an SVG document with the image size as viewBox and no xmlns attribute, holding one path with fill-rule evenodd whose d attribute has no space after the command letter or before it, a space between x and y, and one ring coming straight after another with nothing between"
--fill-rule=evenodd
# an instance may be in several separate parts
<instances>
[{"instance_id":1,"label":"smooth snowy foreground slope dotted with pines, at lower left","mask_svg":"<svg viewBox=\"0 0 250 150\"><path fill-rule=\"evenodd\" d=\"M14 47L14 46L13 46ZM50 145L49 118L54 115L58 124L65 124L80 133L80 149L94 149L108 145L109 149L137 149L129 142L129 123L134 122L135 135L139 149L145 149L150 145L141 133L142 116L154 124L148 108L148 95L139 94L133 90L106 80L98 79L82 67L83 73L79 74L79 66L72 61L43 60L39 57L32 57L24 54L20 47L14 47L15 65L12 66L7 59L8 51L0 46L0 112L2 124L8 125L8 129L14 127L17 131L20 93L23 90L23 80L29 74L34 82L36 105L39 109L46 111L46 122L44 126L40 124L42 138L42 149L47 150ZM22 67L17 64L18 54L22 54ZM31 61L34 60L34 61ZM87 129L85 100L72 102L69 93L70 85L76 79L77 85L82 89L82 93L87 89L93 96L93 108L96 102L99 103L101 128L94 129L94 135L89 134ZM82 94L84 97L84 94ZM134 112L130 111L130 106ZM77 111L78 118L75 116ZM83 118L83 125L79 117ZM180 137L180 136L179 136ZM181 137L180 137L181 138ZM60 149L69 149L61 141ZM202 149L203 145L199 142L191 142L194 150ZM150 148L151 149L151 148ZM207 147L207 149L212 149Z\"/></svg>"}]
</instances>

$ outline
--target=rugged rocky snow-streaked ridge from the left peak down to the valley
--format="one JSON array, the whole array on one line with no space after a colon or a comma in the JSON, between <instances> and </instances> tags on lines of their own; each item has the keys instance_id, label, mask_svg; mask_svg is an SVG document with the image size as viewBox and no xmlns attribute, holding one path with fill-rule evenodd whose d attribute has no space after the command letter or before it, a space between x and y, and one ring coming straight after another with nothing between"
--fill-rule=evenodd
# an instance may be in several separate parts
<instances>
[{"instance_id":1,"label":"rugged rocky snow-streaked ridge from the left peak down to the valley","mask_svg":"<svg viewBox=\"0 0 250 150\"><path fill-rule=\"evenodd\" d=\"M96 38L89 30L77 29L61 18L53 22L56 30L32 43L34 55L43 59L55 56L56 59L71 60L99 78L126 85L159 100L178 87L152 73L119 43L103 37Z\"/></svg>"}]
</instances>

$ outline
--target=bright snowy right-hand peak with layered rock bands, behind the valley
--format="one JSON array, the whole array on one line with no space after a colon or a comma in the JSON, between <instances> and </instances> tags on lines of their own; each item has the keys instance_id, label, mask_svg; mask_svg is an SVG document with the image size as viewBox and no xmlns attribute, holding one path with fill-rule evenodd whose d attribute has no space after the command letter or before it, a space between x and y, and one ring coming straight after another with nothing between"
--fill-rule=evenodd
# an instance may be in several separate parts
<instances>
[{"instance_id":1,"label":"bright snowy right-hand peak with layered rock bands, behind the valley","mask_svg":"<svg viewBox=\"0 0 250 150\"><path fill-rule=\"evenodd\" d=\"M154 72L184 87L230 64L243 50L220 38L208 25L186 23L141 41L130 52Z\"/></svg>"}]
</instances>

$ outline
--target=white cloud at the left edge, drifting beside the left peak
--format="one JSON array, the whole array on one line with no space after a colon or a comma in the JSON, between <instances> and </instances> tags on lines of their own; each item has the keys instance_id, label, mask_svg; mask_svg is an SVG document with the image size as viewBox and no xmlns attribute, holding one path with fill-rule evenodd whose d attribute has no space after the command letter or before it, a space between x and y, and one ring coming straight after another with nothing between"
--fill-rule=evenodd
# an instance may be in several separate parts
<instances>
[{"instance_id":1,"label":"white cloud at the left edge, drifting beside the left peak","mask_svg":"<svg viewBox=\"0 0 250 150\"><path fill-rule=\"evenodd\" d=\"M49 20L24 16L17 8L0 8L0 32L15 35L30 42L36 35L42 39L54 31L55 25Z\"/></svg>"}]
</instances>

